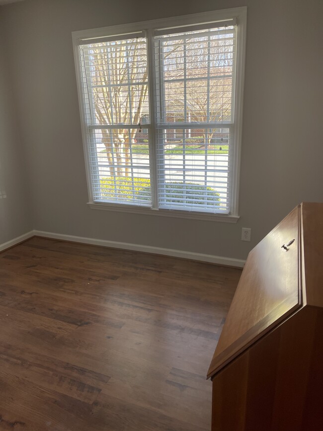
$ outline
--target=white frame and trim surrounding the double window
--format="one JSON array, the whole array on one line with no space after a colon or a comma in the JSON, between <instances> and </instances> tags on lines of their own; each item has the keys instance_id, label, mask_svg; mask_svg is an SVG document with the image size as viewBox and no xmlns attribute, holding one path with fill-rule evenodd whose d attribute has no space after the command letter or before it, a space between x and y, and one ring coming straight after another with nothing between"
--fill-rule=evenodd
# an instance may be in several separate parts
<instances>
[{"instance_id":1,"label":"white frame and trim surrounding the double window","mask_svg":"<svg viewBox=\"0 0 323 431\"><path fill-rule=\"evenodd\" d=\"M85 113L82 102L82 88L81 88L81 71L79 65L79 51L78 47L80 40L93 40L106 38L114 35L123 35L134 33L137 31L145 30L147 32L147 45L148 45L148 70L150 82L155 82L155 71L151 70L150 64L153 64L154 57L154 33L157 29L169 29L169 33L176 27L191 26L197 23L214 23L216 21L224 21L235 19L237 23L237 57L236 57L236 85L235 85L235 136L234 136L234 155L231 158L232 163L232 193L230 202L230 214L211 214L207 212L188 212L182 210L168 210L160 209L157 207L145 208L140 206L122 205L113 203L94 202L92 198L92 186L89 172L89 157L87 148L87 126L85 124ZM212 25L212 24L210 24ZM189 218L198 220L213 220L227 223L237 223L239 219L238 203L239 203L239 179L240 179L240 159L241 159L241 141L242 141L242 104L243 104L243 83L244 83L244 65L245 65L245 39L246 39L246 7L236 7L231 9L214 10L209 12L195 13L190 15L175 16L171 18L154 19L150 21L141 21L130 24L113 25L109 27L101 27L90 30L75 31L72 33L75 67L77 75L77 85L79 94L79 105L81 113L81 130L83 138L83 150L85 158L85 169L87 178L87 187L89 193L89 202L87 203L92 209L109 210L118 212L130 212L137 214L150 214L154 216L163 217L176 217L176 218ZM149 102L150 107L154 104L154 86L150 86ZM151 127L155 130L155 118L151 115ZM154 169L156 159L155 142L152 145L150 153L151 169ZM153 162L153 163L152 163ZM154 182L154 181L153 181ZM155 184L152 184L152 194L154 199ZM156 196L155 196L156 201ZM156 206L156 202L155 202Z\"/></svg>"}]
</instances>

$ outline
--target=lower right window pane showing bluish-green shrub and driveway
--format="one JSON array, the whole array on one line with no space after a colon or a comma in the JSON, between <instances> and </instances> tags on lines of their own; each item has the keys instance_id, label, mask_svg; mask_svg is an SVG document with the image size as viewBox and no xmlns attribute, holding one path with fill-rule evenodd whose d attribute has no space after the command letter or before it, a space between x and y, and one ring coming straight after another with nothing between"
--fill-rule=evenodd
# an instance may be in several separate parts
<instances>
[{"instance_id":1,"label":"lower right window pane showing bluish-green shrub and driveway","mask_svg":"<svg viewBox=\"0 0 323 431\"><path fill-rule=\"evenodd\" d=\"M171 141L169 136L176 136ZM161 208L228 213L230 130L160 131L158 156Z\"/></svg>"}]
</instances>

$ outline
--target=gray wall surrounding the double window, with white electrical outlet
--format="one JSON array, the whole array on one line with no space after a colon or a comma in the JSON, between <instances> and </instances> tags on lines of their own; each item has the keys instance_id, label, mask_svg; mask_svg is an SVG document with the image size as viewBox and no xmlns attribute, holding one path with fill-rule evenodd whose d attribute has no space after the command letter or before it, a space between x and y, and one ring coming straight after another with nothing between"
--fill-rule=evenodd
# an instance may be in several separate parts
<instances>
[{"instance_id":1,"label":"gray wall surrounding the double window, with white electrical outlet","mask_svg":"<svg viewBox=\"0 0 323 431\"><path fill-rule=\"evenodd\" d=\"M87 189L71 32L248 6L237 225L96 211ZM244 259L302 201L323 201L322 0L25 0L2 6L34 227ZM240 240L252 229L251 243Z\"/></svg>"}]
</instances>

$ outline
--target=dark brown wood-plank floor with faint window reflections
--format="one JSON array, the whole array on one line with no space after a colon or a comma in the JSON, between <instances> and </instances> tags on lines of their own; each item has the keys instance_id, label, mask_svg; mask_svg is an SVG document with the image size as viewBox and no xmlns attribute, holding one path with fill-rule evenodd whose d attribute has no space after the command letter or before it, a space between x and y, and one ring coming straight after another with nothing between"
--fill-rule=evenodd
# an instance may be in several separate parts
<instances>
[{"instance_id":1,"label":"dark brown wood-plank floor with faint window reflections","mask_svg":"<svg viewBox=\"0 0 323 431\"><path fill-rule=\"evenodd\" d=\"M43 238L0 254L0 430L209 431L241 271Z\"/></svg>"}]
</instances>

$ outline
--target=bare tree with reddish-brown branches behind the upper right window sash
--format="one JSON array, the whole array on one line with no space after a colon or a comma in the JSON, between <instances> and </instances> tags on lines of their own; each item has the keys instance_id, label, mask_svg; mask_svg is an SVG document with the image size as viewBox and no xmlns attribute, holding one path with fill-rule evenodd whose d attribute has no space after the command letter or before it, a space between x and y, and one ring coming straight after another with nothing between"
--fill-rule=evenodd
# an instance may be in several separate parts
<instances>
[{"instance_id":1,"label":"bare tree with reddish-brown branches behind the upper right window sash","mask_svg":"<svg viewBox=\"0 0 323 431\"><path fill-rule=\"evenodd\" d=\"M201 133L209 145L217 129L207 124L231 118L232 47L221 38L186 37L185 53L177 50L166 64L164 79L170 83L165 91L166 116L169 120L173 116L174 122L177 116L179 121L204 123Z\"/></svg>"}]
</instances>

